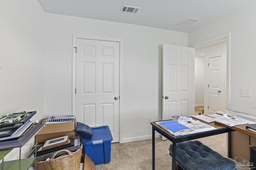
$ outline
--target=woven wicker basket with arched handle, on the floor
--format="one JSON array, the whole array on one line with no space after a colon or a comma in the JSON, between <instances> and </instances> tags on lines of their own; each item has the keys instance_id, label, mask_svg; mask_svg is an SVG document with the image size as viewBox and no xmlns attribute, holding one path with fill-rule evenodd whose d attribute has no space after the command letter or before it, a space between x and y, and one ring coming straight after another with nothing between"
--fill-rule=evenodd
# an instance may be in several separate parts
<instances>
[{"instance_id":1,"label":"woven wicker basket with arched handle, on the floor","mask_svg":"<svg viewBox=\"0 0 256 170\"><path fill-rule=\"evenodd\" d=\"M75 152L62 149L54 153L50 160L36 162L36 170L80 170L83 145ZM55 158L59 152L68 152L63 156Z\"/></svg>"}]
</instances>

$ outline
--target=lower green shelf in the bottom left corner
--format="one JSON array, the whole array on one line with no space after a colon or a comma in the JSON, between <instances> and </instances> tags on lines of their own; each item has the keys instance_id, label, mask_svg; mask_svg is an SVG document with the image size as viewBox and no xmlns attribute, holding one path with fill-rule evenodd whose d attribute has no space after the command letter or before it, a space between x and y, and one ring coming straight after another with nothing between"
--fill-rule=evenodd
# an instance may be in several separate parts
<instances>
[{"instance_id":1,"label":"lower green shelf in the bottom left corner","mask_svg":"<svg viewBox=\"0 0 256 170\"><path fill-rule=\"evenodd\" d=\"M35 159L33 157L2 162L0 164L0 170L28 170Z\"/></svg>"}]
</instances>

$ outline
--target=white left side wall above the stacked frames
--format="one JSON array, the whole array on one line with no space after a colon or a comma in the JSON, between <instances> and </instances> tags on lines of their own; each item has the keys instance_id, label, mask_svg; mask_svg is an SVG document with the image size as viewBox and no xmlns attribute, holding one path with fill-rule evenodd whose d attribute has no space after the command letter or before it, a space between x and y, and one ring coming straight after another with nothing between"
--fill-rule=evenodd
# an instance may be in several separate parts
<instances>
[{"instance_id":1,"label":"white left side wall above the stacked frames","mask_svg":"<svg viewBox=\"0 0 256 170\"><path fill-rule=\"evenodd\" d=\"M44 11L35 0L1 0L0 116L24 110L44 114Z\"/></svg>"}]
</instances>

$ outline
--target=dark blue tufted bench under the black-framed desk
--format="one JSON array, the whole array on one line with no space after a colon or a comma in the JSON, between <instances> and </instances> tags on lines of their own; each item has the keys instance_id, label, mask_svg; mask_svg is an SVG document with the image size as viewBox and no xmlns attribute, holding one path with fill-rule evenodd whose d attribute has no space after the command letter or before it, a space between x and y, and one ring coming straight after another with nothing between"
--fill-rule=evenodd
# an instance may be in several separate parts
<instances>
[{"instance_id":1,"label":"dark blue tufted bench under the black-framed desk","mask_svg":"<svg viewBox=\"0 0 256 170\"><path fill-rule=\"evenodd\" d=\"M172 156L172 145L169 151ZM200 141L177 143L176 162L184 170L236 170L235 162L223 157Z\"/></svg>"}]
</instances>

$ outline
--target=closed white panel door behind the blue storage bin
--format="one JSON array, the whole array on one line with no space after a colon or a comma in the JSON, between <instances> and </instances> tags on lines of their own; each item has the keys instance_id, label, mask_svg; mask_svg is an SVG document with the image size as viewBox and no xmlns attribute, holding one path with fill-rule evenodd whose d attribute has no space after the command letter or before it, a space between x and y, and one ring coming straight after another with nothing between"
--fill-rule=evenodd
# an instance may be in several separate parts
<instances>
[{"instance_id":1,"label":"closed white panel door behind the blue storage bin","mask_svg":"<svg viewBox=\"0 0 256 170\"><path fill-rule=\"evenodd\" d=\"M77 39L76 119L119 142L119 42Z\"/></svg>"}]
</instances>

